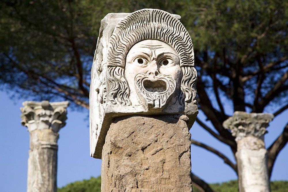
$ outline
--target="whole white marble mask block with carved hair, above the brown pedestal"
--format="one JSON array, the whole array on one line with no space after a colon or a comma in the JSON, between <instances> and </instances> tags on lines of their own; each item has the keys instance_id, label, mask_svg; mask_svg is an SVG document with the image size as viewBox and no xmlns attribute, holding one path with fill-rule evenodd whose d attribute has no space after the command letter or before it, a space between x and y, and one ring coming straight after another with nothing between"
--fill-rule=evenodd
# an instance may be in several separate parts
<instances>
[{"instance_id":1,"label":"whole white marble mask block with carved hair, above the brown pedestal","mask_svg":"<svg viewBox=\"0 0 288 192\"><path fill-rule=\"evenodd\" d=\"M180 16L159 9L101 22L90 86L90 153L101 158L118 116L198 113L193 45Z\"/></svg>"}]
</instances>

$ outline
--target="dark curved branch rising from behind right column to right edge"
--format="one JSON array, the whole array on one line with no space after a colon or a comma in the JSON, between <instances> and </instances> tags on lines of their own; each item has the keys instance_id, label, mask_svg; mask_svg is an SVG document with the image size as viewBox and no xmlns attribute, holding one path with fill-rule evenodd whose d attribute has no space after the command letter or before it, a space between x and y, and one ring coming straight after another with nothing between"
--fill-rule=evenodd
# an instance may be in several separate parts
<instances>
[{"instance_id":1,"label":"dark curved branch rising from behind right column to right edge","mask_svg":"<svg viewBox=\"0 0 288 192\"><path fill-rule=\"evenodd\" d=\"M268 151L267 164L268 164L269 177L271 177L271 173L272 173L273 166L274 166L277 155L283 149L283 147L285 147L287 142L288 142L288 123L284 127L284 130L281 133L281 135L267 149L267 151Z\"/></svg>"}]
</instances>

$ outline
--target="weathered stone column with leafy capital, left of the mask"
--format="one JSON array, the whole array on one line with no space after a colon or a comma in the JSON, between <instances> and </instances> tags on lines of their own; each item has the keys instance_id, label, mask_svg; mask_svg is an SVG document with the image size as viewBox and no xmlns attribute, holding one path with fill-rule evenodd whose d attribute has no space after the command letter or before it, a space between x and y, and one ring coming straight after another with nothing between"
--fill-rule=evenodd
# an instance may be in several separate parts
<instances>
[{"instance_id":1,"label":"weathered stone column with leafy capital, left of the mask","mask_svg":"<svg viewBox=\"0 0 288 192\"><path fill-rule=\"evenodd\" d=\"M21 123L30 133L27 191L57 191L58 131L65 126L69 102L25 101Z\"/></svg>"}]
</instances>

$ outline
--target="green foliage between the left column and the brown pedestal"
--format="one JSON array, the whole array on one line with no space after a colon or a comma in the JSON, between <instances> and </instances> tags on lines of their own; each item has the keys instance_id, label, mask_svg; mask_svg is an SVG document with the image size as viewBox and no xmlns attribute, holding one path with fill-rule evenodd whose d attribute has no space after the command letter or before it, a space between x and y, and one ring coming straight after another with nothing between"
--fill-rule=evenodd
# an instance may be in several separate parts
<instances>
[{"instance_id":1,"label":"green foliage between the left column and the brown pedestal","mask_svg":"<svg viewBox=\"0 0 288 192\"><path fill-rule=\"evenodd\" d=\"M101 176L91 177L89 180L76 181L65 187L58 188L58 192L101 192Z\"/></svg>"}]
</instances>

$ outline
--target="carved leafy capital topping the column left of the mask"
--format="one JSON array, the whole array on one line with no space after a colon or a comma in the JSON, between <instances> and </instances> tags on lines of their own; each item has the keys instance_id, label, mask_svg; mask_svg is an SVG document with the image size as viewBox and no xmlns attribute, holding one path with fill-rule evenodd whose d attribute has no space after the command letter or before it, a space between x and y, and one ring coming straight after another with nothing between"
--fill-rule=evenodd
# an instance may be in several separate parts
<instances>
[{"instance_id":1,"label":"carved leafy capital topping the column left of the mask","mask_svg":"<svg viewBox=\"0 0 288 192\"><path fill-rule=\"evenodd\" d=\"M21 124L26 126L29 132L36 129L52 129L58 132L66 124L69 101L24 101L22 105Z\"/></svg>"}]
</instances>

